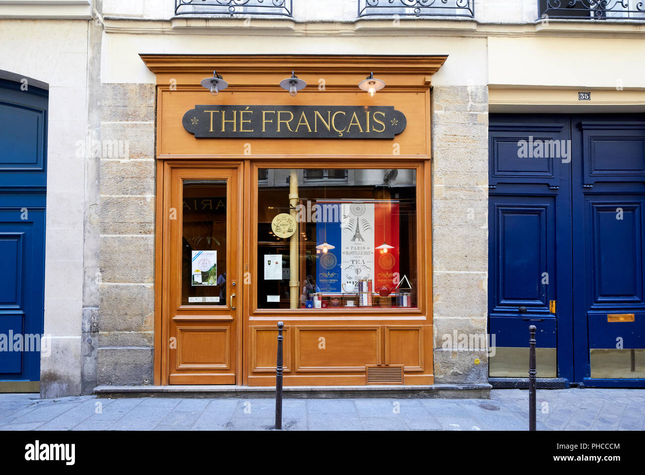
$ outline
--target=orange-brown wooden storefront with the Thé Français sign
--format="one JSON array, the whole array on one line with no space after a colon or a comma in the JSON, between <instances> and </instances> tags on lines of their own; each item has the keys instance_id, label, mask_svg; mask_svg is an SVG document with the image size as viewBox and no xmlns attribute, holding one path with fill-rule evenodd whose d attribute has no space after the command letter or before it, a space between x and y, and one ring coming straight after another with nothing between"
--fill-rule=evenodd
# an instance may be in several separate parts
<instances>
[{"instance_id":1,"label":"orange-brown wooden storefront with the Th\u00e9 Fran\u00e7ais sign","mask_svg":"<svg viewBox=\"0 0 645 475\"><path fill-rule=\"evenodd\" d=\"M365 385L366 365L375 366L376 374L402 366L402 383L433 384L430 94L431 76L446 56L141 58L157 78L155 385L274 385L278 321L285 328L286 386ZM213 97L200 81L215 69L230 85ZM295 97L278 86L292 70L308 83ZM373 97L357 87L371 71L386 83ZM197 105L387 106L404 114L406 126L394 138L195 138L182 120ZM244 126L239 116L233 120L237 125L230 127ZM415 246L410 253L413 306L304 308L310 302L306 296L298 299L297 308L293 301L291 308L266 304L266 269L259 258L273 255L266 249L278 253L290 248L290 240L299 240L299 263L292 267L299 269L299 279L286 279L290 285L298 280L299 290L309 269L303 250L311 246L305 242L306 229L297 227L293 237L275 238L272 244L260 236L272 210L264 206L270 190L259 193L266 170L294 169L344 169L350 176L364 169L397 169L415 176L413 226L406 242L401 241L402 248ZM381 196L377 185L364 188L364 193ZM316 190L321 195L323 185ZM328 191L324 185L324 193L342 189ZM195 249L204 246L197 229L206 218L212 230L208 246L215 246L211 238L220 246L219 272L213 277L219 295L213 297L200 297L195 281L184 279ZM203 269L201 274L207 277ZM376 290L370 291L378 299ZM389 294L385 298L390 302Z\"/></svg>"}]
</instances>

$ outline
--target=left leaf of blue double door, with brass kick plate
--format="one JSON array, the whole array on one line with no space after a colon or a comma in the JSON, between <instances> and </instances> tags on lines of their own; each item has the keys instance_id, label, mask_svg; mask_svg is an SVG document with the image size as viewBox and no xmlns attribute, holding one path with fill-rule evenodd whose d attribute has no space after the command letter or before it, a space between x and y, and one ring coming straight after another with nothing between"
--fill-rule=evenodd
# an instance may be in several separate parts
<instances>
[{"instance_id":1,"label":"left leaf of blue double door, with brass kick plate","mask_svg":"<svg viewBox=\"0 0 645 475\"><path fill-rule=\"evenodd\" d=\"M535 324L538 377L569 379L571 174L562 144L570 121L491 114L489 130L490 376L528 376Z\"/></svg>"}]
</instances>

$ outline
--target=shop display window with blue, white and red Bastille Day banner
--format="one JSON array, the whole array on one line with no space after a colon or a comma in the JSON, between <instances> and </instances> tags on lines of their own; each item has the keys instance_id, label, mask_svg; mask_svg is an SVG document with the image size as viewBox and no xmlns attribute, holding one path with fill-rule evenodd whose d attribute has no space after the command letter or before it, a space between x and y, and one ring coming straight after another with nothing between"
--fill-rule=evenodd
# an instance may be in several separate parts
<instances>
[{"instance_id":1,"label":"shop display window with blue, white and red Bastille Day banner","mask_svg":"<svg viewBox=\"0 0 645 475\"><path fill-rule=\"evenodd\" d=\"M257 169L257 308L417 308L416 169Z\"/></svg>"}]
</instances>

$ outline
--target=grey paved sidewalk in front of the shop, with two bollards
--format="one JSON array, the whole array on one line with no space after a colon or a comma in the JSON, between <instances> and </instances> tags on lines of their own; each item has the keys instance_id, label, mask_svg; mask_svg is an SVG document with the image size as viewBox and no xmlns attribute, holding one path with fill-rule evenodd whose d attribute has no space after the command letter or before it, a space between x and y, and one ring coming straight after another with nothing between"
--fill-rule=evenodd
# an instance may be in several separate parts
<instances>
[{"instance_id":1,"label":"grey paved sidewalk in front of the shop, with two bollards","mask_svg":"<svg viewBox=\"0 0 645 475\"><path fill-rule=\"evenodd\" d=\"M645 390L537 392L538 430L645 430ZM0 430L267 430L273 399L0 394ZM286 430L528 430L528 391L491 399L284 399Z\"/></svg>"}]
</instances>

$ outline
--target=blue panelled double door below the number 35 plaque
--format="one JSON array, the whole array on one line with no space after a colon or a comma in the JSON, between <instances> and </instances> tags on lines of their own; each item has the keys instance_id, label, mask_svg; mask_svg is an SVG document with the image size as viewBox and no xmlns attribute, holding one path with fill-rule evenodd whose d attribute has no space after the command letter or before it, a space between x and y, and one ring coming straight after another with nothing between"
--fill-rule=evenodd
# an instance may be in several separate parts
<instances>
[{"instance_id":1,"label":"blue panelled double door below the number 35 plaque","mask_svg":"<svg viewBox=\"0 0 645 475\"><path fill-rule=\"evenodd\" d=\"M645 386L642 115L491 114L491 378Z\"/></svg>"}]
</instances>

